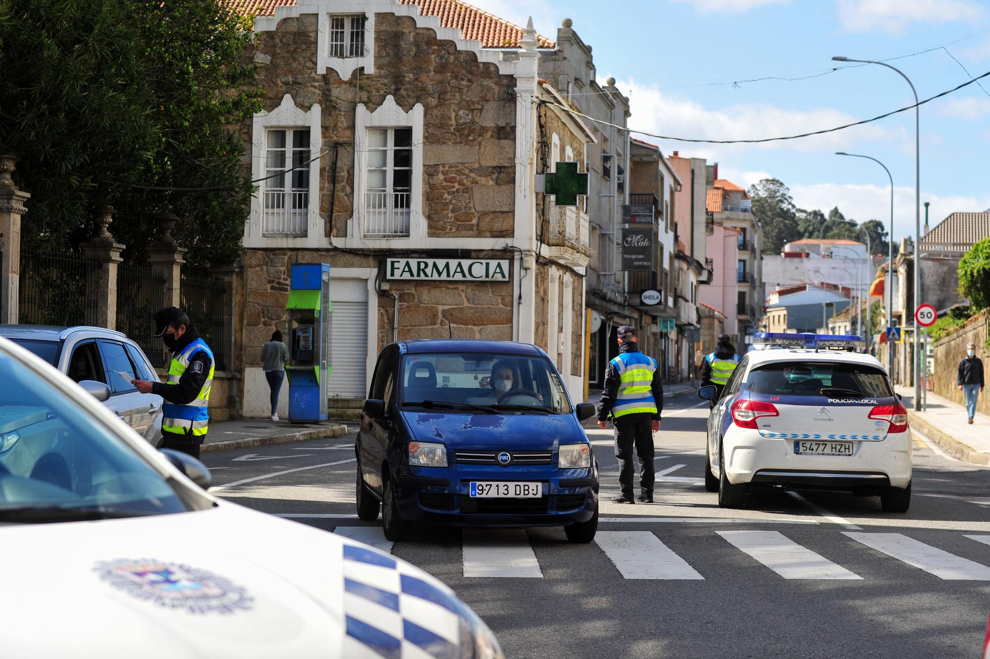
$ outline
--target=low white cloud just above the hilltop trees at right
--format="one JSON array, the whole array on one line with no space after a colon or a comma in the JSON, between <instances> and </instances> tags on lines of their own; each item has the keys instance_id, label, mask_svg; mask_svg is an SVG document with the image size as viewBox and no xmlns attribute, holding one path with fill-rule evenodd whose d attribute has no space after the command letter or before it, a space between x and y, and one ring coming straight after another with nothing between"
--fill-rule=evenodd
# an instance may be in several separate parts
<instances>
[{"instance_id":1,"label":"low white cloud just above the hilltop trees at right","mask_svg":"<svg viewBox=\"0 0 990 659\"><path fill-rule=\"evenodd\" d=\"M883 172L879 172L883 176ZM883 185L858 185L841 183L816 183L791 185L791 197L798 208L819 209L828 214L838 206L846 218L856 222L880 220L885 226L890 222L890 187ZM922 193L922 203L930 202L929 226L935 227L950 213L956 211L979 213L990 208L990 195L940 196ZM925 207L921 209L921 221L925 224ZM915 189L894 187L894 237L915 234Z\"/></svg>"}]
</instances>

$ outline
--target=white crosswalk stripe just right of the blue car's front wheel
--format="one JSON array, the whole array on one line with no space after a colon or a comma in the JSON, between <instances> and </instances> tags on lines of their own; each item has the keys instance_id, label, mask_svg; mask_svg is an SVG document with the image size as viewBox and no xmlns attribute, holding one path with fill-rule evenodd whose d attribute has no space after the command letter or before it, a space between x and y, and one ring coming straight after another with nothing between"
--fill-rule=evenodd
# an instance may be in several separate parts
<instances>
[{"instance_id":1,"label":"white crosswalk stripe just right of the blue car's front wheel","mask_svg":"<svg viewBox=\"0 0 990 659\"><path fill-rule=\"evenodd\" d=\"M649 531L598 531L595 542L626 579L704 579Z\"/></svg>"}]
</instances>

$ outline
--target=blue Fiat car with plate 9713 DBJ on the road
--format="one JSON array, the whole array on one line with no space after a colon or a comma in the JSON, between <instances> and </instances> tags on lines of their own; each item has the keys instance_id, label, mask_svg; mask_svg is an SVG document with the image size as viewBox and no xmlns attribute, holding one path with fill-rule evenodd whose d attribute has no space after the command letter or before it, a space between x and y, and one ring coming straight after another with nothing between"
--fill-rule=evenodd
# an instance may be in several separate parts
<instances>
[{"instance_id":1,"label":"blue Fiat car with plate 9713 DBJ on the road","mask_svg":"<svg viewBox=\"0 0 990 659\"><path fill-rule=\"evenodd\" d=\"M526 343L400 341L378 355L354 450L357 517L415 524L598 527L598 467L546 353Z\"/></svg>"}]
</instances>

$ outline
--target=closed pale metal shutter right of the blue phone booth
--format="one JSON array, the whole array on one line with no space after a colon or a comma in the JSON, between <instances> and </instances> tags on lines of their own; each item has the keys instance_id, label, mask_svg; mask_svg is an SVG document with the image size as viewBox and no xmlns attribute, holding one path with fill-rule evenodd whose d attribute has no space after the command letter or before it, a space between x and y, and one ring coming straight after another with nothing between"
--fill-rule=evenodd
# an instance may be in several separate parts
<instances>
[{"instance_id":1,"label":"closed pale metal shutter right of the blue phone booth","mask_svg":"<svg viewBox=\"0 0 990 659\"><path fill-rule=\"evenodd\" d=\"M333 282L331 283L333 290ZM334 301L330 335L330 397L364 398L368 303Z\"/></svg>"}]
</instances>

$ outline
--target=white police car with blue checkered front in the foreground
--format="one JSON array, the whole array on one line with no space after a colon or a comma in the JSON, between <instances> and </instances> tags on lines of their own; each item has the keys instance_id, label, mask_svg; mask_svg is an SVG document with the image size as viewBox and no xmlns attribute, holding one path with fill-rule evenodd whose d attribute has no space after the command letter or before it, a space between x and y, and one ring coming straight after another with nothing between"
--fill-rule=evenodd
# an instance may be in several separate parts
<instances>
[{"instance_id":1,"label":"white police car with blue checkered front in the foreground","mask_svg":"<svg viewBox=\"0 0 990 659\"><path fill-rule=\"evenodd\" d=\"M201 462L4 338L0 381L5 659L502 657L436 579L210 496Z\"/></svg>"}]
</instances>

